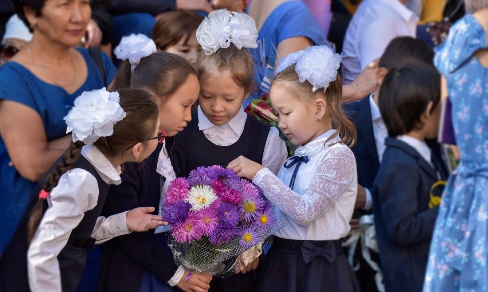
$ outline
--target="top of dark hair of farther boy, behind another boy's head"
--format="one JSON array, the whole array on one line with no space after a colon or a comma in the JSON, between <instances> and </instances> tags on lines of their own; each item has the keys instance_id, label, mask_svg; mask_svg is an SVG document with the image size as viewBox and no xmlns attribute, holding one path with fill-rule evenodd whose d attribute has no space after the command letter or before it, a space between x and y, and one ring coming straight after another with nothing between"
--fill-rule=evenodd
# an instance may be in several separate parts
<instances>
[{"instance_id":1,"label":"top of dark hair of farther boy, behind another boy's head","mask_svg":"<svg viewBox=\"0 0 488 292\"><path fill-rule=\"evenodd\" d=\"M388 70L410 62L434 65L434 51L426 42L412 37L396 37L391 40L379 59L379 67Z\"/></svg>"}]
</instances>

